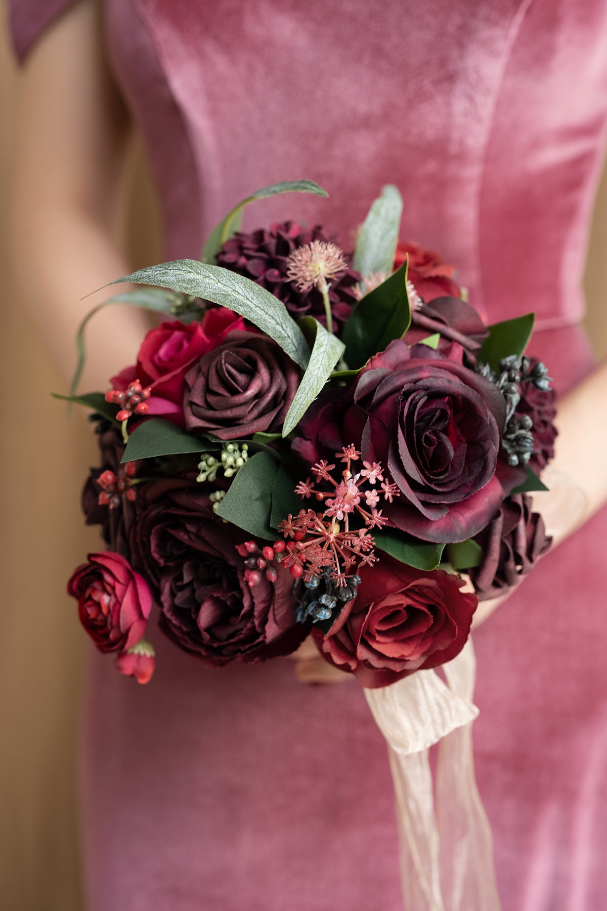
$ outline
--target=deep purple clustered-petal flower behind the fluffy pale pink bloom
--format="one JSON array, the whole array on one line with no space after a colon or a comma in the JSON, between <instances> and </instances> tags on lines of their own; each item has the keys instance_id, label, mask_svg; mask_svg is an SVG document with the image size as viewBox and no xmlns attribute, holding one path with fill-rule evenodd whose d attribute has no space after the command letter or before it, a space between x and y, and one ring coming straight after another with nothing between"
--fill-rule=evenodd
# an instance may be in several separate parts
<instances>
[{"instance_id":1,"label":"deep purple clustered-petal flower behind the fluffy pale pink bloom","mask_svg":"<svg viewBox=\"0 0 607 911\"><path fill-rule=\"evenodd\" d=\"M319 225L309 230L295 221L285 221L248 234L238 231L224 243L217 259L220 266L256 281L278 297L296 320L309 313L326 325L325 305L319 289L298 291L295 284L287 279L287 260L296 247L304 247L312 241L331 240ZM339 272L330 282L331 315L333 328L338 334L356 303L359 281L359 272L348 269Z\"/></svg>"}]
</instances>

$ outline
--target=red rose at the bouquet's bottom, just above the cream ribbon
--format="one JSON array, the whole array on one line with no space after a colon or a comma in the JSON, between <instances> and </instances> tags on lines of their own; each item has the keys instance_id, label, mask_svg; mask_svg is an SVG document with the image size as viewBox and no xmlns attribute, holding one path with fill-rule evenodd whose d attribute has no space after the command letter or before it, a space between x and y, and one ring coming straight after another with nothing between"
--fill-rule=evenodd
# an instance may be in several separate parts
<instances>
[{"instance_id":1,"label":"red rose at the bouquet's bottom, just above the cream ribbon","mask_svg":"<svg viewBox=\"0 0 607 911\"><path fill-rule=\"evenodd\" d=\"M358 598L329 634L312 632L329 663L374 688L435 668L463 649L478 599L460 591L464 582L454 573L424 572L382 554L360 578Z\"/></svg>"}]
</instances>

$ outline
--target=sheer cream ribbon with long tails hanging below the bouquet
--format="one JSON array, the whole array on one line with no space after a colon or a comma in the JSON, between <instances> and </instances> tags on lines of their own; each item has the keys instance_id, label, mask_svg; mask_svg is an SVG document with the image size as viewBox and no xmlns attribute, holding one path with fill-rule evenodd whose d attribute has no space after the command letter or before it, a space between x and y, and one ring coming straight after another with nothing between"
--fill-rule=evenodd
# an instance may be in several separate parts
<instances>
[{"instance_id":1,"label":"sheer cream ribbon with long tails hanging below the bouquet","mask_svg":"<svg viewBox=\"0 0 607 911\"><path fill-rule=\"evenodd\" d=\"M446 684L434 670L418 670L364 691L388 743L403 905L406 911L501 911L491 827L474 775L472 722L479 710L471 701L476 660L470 639L443 670Z\"/></svg>"}]
</instances>

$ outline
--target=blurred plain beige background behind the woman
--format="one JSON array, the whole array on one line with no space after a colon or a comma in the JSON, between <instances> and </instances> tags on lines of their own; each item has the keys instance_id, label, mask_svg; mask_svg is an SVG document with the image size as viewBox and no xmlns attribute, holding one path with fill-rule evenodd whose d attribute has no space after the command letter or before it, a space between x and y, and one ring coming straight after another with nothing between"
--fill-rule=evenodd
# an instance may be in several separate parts
<instances>
[{"instance_id":1,"label":"blurred plain beige background behind the woman","mask_svg":"<svg viewBox=\"0 0 607 911\"><path fill-rule=\"evenodd\" d=\"M5 13L4 7L0 7ZM6 212L16 73L0 22L0 907L82 908L76 840L76 718L85 634L66 579L94 529L78 498L96 462L88 427L66 421L48 391L64 381L6 283ZM130 247L134 266L158 261L157 208L134 148ZM137 215L137 219L136 219ZM143 227L142 227L143 226ZM588 326L607 354L607 179L595 212L586 292ZM35 266L33 266L35 268ZM44 302L41 302L44 305ZM108 909L110 911L110 909Z\"/></svg>"}]
</instances>

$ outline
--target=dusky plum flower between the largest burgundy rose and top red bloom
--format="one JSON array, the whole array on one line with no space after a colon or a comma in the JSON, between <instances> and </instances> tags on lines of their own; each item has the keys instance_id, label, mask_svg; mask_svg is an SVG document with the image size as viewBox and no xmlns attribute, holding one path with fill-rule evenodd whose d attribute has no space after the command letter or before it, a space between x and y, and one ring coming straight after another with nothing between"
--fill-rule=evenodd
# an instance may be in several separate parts
<instances>
[{"instance_id":1,"label":"dusky plum flower between the largest burgundy rose and top red bloom","mask_svg":"<svg viewBox=\"0 0 607 911\"><path fill-rule=\"evenodd\" d=\"M440 297L411 310L411 324L405 334L406 343L418 343L434 333L440 334L439 351L443 351L451 342L458 342L468 359L480 351L481 344L489 334L476 310L458 297ZM473 357L472 361L475 360Z\"/></svg>"}]
</instances>

